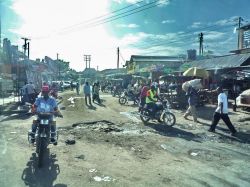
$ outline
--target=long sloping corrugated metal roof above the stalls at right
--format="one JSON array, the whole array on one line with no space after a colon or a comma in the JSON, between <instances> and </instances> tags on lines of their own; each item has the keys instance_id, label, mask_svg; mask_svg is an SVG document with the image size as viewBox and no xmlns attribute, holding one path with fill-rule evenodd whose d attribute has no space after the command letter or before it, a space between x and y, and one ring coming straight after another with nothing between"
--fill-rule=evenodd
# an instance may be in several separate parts
<instances>
[{"instance_id":1,"label":"long sloping corrugated metal roof above the stalls at right","mask_svg":"<svg viewBox=\"0 0 250 187\"><path fill-rule=\"evenodd\" d=\"M250 53L228 55L211 59L197 60L187 63L190 67L203 69L223 69L250 65ZM248 60L249 59L249 60Z\"/></svg>"}]
</instances>

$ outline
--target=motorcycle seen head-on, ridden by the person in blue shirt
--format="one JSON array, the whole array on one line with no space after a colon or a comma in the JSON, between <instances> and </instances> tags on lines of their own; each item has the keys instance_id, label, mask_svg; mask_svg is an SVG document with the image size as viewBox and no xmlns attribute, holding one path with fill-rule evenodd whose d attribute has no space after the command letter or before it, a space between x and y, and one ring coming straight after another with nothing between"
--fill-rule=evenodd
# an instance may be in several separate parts
<instances>
[{"instance_id":1,"label":"motorcycle seen head-on, ridden by the person in blue shirt","mask_svg":"<svg viewBox=\"0 0 250 187\"><path fill-rule=\"evenodd\" d=\"M53 113L38 113L38 119L35 123L37 124L36 134L35 134L35 145L36 153L38 155L38 167L42 167L45 151L51 142L51 125L56 123L51 121ZM62 116L59 116L62 117ZM28 133L28 141L31 142L31 132ZM58 133L55 131L56 142L58 140ZM57 143L54 143L56 145Z\"/></svg>"}]
</instances>

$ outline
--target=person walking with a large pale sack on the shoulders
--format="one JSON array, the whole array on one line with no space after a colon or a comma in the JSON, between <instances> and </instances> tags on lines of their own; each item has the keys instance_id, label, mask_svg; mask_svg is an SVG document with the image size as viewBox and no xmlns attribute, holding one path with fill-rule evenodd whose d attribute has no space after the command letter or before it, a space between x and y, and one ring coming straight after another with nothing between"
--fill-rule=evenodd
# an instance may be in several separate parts
<instances>
[{"instance_id":1,"label":"person walking with a large pale sack on the shoulders","mask_svg":"<svg viewBox=\"0 0 250 187\"><path fill-rule=\"evenodd\" d=\"M190 86L186 95L188 96L188 109L183 117L188 119L187 117L192 115L194 122L198 122L196 112L196 105L198 104L198 92L192 86Z\"/></svg>"}]
</instances>

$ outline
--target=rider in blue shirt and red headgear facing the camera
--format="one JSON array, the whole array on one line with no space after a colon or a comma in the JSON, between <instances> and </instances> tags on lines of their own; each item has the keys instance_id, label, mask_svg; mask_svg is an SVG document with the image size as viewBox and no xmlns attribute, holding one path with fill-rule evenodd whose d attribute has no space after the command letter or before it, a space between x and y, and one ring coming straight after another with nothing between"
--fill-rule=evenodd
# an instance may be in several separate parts
<instances>
[{"instance_id":1,"label":"rider in blue shirt and red headgear facing the camera","mask_svg":"<svg viewBox=\"0 0 250 187\"><path fill-rule=\"evenodd\" d=\"M42 86L42 96L38 97L32 106L32 113L35 112L53 112L57 116L62 117L62 114L58 110L56 100L53 97L49 96L49 86L45 85ZM39 118L37 120L33 121L33 124L31 126L31 143L35 142L35 134L37 129L37 121L39 121ZM51 116L50 121L53 121L53 116ZM51 123L51 143L56 145L56 124Z\"/></svg>"}]
</instances>

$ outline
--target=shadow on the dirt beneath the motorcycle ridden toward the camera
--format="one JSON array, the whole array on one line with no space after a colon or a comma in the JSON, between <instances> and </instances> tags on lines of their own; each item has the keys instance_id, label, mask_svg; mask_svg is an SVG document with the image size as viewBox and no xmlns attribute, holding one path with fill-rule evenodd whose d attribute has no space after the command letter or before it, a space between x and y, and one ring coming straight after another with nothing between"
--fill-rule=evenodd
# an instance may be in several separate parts
<instances>
[{"instance_id":1,"label":"shadow on the dirt beneath the motorcycle ridden toward the camera","mask_svg":"<svg viewBox=\"0 0 250 187\"><path fill-rule=\"evenodd\" d=\"M67 187L65 184L55 184L57 176L60 173L59 165L55 162L57 161L55 154L50 154L49 150L46 151L44 155L47 158L44 161L43 167L37 167L37 156L33 153L30 160L26 164L26 168L22 173L22 180L26 186L36 187L36 186L46 186L46 187Z\"/></svg>"}]
</instances>

